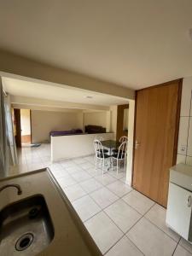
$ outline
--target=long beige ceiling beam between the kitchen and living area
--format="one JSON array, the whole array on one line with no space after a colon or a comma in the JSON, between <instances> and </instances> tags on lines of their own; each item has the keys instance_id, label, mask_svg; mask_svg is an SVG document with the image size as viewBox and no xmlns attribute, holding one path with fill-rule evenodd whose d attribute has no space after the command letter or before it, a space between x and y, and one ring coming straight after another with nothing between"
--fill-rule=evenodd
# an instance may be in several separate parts
<instances>
[{"instance_id":1,"label":"long beige ceiling beam between the kitchen and living area","mask_svg":"<svg viewBox=\"0 0 192 256\"><path fill-rule=\"evenodd\" d=\"M119 86L118 84L93 79L65 69L51 67L3 50L0 50L0 74L3 77L15 78L15 76L11 75L14 74L30 79L38 79L39 82L40 80L48 81L60 87L69 85L127 99L135 98L134 90Z\"/></svg>"}]
</instances>

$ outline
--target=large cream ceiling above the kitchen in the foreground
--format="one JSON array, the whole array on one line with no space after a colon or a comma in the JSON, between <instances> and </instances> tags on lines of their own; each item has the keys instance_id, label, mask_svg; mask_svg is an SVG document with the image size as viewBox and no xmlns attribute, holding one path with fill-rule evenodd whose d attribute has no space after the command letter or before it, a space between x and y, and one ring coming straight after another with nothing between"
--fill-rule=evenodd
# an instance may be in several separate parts
<instances>
[{"instance_id":1,"label":"large cream ceiling above the kitchen in the foreground","mask_svg":"<svg viewBox=\"0 0 192 256\"><path fill-rule=\"evenodd\" d=\"M191 0L0 0L0 48L140 89L192 75Z\"/></svg>"}]
</instances>

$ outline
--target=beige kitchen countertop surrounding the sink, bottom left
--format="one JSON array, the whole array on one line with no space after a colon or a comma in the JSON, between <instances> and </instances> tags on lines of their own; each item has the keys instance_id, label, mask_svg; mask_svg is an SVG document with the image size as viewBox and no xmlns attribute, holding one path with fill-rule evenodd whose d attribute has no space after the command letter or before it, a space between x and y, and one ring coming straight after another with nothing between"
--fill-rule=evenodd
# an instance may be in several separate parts
<instances>
[{"instance_id":1,"label":"beige kitchen countertop surrounding the sink, bottom left","mask_svg":"<svg viewBox=\"0 0 192 256\"><path fill-rule=\"evenodd\" d=\"M0 187L9 183L19 184L23 193L17 195L15 188L4 189L0 193L0 210L26 197L44 195L55 236L38 256L102 255L49 169L5 177L0 181Z\"/></svg>"}]
</instances>

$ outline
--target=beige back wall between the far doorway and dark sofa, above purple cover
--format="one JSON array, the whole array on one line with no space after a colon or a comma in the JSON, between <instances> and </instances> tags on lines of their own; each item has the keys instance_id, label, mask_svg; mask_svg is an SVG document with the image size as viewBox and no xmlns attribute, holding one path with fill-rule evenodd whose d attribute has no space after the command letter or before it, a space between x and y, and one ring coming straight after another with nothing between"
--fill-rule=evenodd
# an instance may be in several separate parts
<instances>
[{"instance_id":1,"label":"beige back wall between the far doorway and dark sofa, above purple cover","mask_svg":"<svg viewBox=\"0 0 192 256\"><path fill-rule=\"evenodd\" d=\"M49 141L50 131L83 128L82 113L32 110L32 143Z\"/></svg>"}]
</instances>

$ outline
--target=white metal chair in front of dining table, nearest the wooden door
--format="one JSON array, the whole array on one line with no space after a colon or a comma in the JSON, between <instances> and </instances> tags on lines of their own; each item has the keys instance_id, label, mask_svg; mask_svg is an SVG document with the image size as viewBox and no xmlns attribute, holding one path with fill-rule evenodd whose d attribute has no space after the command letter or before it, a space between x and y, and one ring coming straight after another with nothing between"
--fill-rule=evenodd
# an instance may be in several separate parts
<instances>
[{"instance_id":1,"label":"white metal chair in front of dining table, nearest the wooden door","mask_svg":"<svg viewBox=\"0 0 192 256\"><path fill-rule=\"evenodd\" d=\"M112 170L113 170L113 160L116 160L117 174L119 172L119 161L124 161L124 167L126 169L126 154L127 154L127 142L123 142L119 146L118 153L114 153L111 156Z\"/></svg>"}]
</instances>

